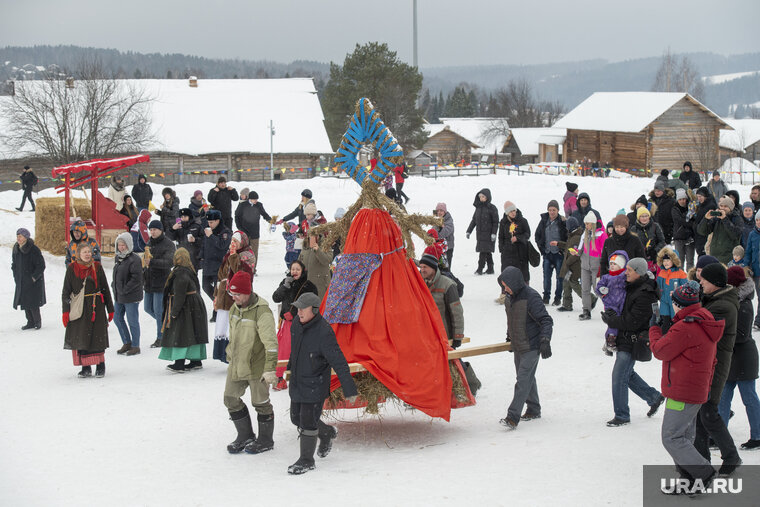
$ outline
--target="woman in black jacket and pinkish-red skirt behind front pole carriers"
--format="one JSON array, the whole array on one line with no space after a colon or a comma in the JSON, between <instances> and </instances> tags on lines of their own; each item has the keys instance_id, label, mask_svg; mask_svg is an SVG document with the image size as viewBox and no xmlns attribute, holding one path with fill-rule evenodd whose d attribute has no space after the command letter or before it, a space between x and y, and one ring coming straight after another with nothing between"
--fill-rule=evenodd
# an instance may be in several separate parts
<instances>
[{"instance_id":1,"label":"woman in black jacket and pinkish-red skirt behind front pole carriers","mask_svg":"<svg viewBox=\"0 0 760 507\"><path fill-rule=\"evenodd\" d=\"M290 358L290 327L293 324L293 319L298 315L298 309L293 306L293 301L306 292L317 294L317 286L308 280L306 265L295 260L290 265L290 275L283 278L280 286L272 294L272 301L280 303L280 322L277 328L278 360ZM285 368L277 368L276 373L277 385L275 385L274 390L287 389L288 384L283 378Z\"/></svg>"}]
</instances>

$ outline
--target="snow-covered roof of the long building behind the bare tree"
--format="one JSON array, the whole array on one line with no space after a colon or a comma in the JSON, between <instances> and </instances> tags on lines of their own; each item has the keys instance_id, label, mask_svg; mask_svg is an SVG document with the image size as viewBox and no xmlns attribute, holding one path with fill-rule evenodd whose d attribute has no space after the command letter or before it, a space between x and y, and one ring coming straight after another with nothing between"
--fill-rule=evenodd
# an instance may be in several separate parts
<instances>
[{"instance_id":1,"label":"snow-covered roof of the long building behind the bare tree","mask_svg":"<svg viewBox=\"0 0 760 507\"><path fill-rule=\"evenodd\" d=\"M269 153L269 122L274 122L274 153L328 154L333 149L311 78L122 80L153 97L156 144L142 151L187 155ZM42 86L27 81L23 86ZM22 85L18 83L17 86ZM76 85L75 85L76 86ZM12 100L11 97L0 97ZM6 128L0 118L0 132ZM16 158L0 146L0 155Z\"/></svg>"}]
</instances>

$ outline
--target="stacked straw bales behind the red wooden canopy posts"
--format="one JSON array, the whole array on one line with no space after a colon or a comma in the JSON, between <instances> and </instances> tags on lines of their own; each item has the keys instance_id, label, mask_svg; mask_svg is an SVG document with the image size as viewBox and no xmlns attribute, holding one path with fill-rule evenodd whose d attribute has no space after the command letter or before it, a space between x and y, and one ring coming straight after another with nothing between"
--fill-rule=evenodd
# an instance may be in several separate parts
<instances>
[{"instance_id":1,"label":"stacked straw bales behind the red wooden canopy posts","mask_svg":"<svg viewBox=\"0 0 760 507\"><path fill-rule=\"evenodd\" d=\"M83 220L92 218L88 199L71 199L71 216ZM34 244L53 255L64 255L69 226L65 223L64 197L40 197L35 202ZM65 236L64 236L65 235Z\"/></svg>"}]
</instances>

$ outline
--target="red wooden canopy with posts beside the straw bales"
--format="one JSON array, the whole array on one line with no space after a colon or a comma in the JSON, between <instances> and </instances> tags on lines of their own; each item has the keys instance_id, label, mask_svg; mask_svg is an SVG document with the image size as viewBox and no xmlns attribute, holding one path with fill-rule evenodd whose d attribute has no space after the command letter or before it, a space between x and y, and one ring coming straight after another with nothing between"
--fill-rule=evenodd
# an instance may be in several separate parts
<instances>
[{"instance_id":1,"label":"red wooden canopy with posts beside the straw bales","mask_svg":"<svg viewBox=\"0 0 760 507\"><path fill-rule=\"evenodd\" d=\"M135 164L141 164L143 162L150 162L148 155L131 155L129 157L111 158L111 159L93 159L86 162L77 162L74 164L62 165L53 168L53 178L63 178L63 185L55 187L56 193L60 194L64 192L64 209L65 209L65 239L68 242L69 239L69 222L71 219L71 190L77 187L81 187L86 183L90 183L92 189L91 206L92 206L92 221L95 224L95 239L98 244L101 244L100 231L103 228L103 220L106 217L100 216L99 208L105 197L98 191L98 178L108 176L115 173L125 167L129 167ZM85 172L86 174L72 178L75 173ZM105 209L103 210L105 211ZM123 224L121 224L123 225Z\"/></svg>"}]
</instances>

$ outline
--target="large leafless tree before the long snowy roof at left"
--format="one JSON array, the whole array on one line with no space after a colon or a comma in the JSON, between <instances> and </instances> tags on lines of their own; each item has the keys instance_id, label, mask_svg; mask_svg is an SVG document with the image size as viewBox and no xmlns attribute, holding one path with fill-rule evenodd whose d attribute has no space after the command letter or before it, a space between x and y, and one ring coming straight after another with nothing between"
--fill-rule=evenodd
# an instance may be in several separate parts
<instances>
[{"instance_id":1,"label":"large leafless tree before the long snowy roof at left","mask_svg":"<svg viewBox=\"0 0 760 507\"><path fill-rule=\"evenodd\" d=\"M0 108L11 150L71 163L139 151L154 141L153 99L141 87L105 77L98 63L81 64L75 75L16 83Z\"/></svg>"}]
</instances>

